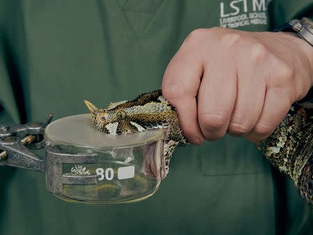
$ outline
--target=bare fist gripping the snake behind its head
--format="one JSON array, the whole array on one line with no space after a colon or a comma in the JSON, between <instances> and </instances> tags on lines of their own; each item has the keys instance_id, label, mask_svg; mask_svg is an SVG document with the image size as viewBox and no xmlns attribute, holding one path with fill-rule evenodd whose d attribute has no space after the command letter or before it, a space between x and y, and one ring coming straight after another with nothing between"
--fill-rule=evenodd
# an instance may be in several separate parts
<instances>
[{"instance_id":1,"label":"bare fist gripping the snake behind its head","mask_svg":"<svg viewBox=\"0 0 313 235\"><path fill-rule=\"evenodd\" d=\"M313 47L294 33L197 29L170 60L163 96L200 145L229 133L259 142L313 85Z\"/></svg>"}]
</instances>

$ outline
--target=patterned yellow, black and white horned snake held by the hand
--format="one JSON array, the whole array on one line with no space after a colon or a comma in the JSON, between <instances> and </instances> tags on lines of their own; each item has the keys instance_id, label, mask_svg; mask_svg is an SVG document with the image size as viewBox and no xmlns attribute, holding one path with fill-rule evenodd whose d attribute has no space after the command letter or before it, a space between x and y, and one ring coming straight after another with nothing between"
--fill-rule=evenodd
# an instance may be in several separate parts
<instances>
[{"instance_id":1,"label":"patterned yellow, black and white horned snake held by the hand","mask_svg":"<svg viewBox=\"0 0 313 235\"><path fill-rule=\"evenodd\" d=\"M111 102L106 108L97 108L85 101L90 110L91 122L96 129L120 135L149 129L163 128L164 164L162 178L166 177L175 147L187 145L188 141L179 128L175 108L163 96L161 90L147 92L133 100ZM287 175L300 195L313 205L313 105L293 104L275 131L257 143L266 158ZM151 174L150 174L151 175Z\"/></svg>"}]
</instances>

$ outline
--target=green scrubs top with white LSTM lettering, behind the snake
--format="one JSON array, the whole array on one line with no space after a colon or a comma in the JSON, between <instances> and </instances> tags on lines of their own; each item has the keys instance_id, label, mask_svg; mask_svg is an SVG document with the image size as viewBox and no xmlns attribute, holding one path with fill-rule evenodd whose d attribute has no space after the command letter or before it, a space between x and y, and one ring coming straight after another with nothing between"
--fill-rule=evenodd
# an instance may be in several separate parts
<instances>
[{"instance_id":1,"label":"green scrubs top with white LSTM lettering, behind the snake","mask_svg":"<svg viewBox=\"0 0 313 235\"><path fill-rule=\"evenodd\" d=\"M0 0L0 122L87 113L161 88L184 38L222 26L268 31L311 0ZM312 17L312 15L307 15ZM209 43L209 42L208 42ZM0 167L0 234L312 234L312 208L245 138L178 148L152 197L58 200L45 177Z\"/></svg>"}]
</instances>

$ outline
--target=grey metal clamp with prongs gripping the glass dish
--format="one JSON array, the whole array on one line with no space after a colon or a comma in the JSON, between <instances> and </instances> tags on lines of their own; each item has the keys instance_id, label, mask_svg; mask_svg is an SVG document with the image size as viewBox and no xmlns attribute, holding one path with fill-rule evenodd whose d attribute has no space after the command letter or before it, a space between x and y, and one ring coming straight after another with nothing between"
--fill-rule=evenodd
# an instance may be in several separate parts
<instances>
[{"instance_id":1,"label":"grey metal clamp with prongs gripping the glass dish","mask_svg":"<svg viewBox=\"0 0 313 235\"><path fill-rule=\"evenodd\" d=\"M47 190L63 195L64 184L97 184L97 175L63 174L63 163L97 163L97 154L68 154L50 145L45 146L45 128L51 122L30 122L23 125L0 125L0 165L24 168L42 172L46 176ZM46 158L34 154L29 149L45 147Z\"/></svg>"}]
</instances>

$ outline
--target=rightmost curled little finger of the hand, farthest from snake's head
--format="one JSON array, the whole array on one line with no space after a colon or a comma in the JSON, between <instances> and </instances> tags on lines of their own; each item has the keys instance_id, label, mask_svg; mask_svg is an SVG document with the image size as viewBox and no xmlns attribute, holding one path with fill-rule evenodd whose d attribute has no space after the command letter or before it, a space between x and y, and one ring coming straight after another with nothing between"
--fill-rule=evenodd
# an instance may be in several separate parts
<instances>
[{"instance_id":1,"label":"rightmost curled little finger of the hand, farthest from snake's head","mask_svg":"<svg viewBox=\"0 0 313 235\"><path fill-rule=\"evenodd\" d=\"M290 108L289 99L282 99L282 97L288 97L286 91L273 88L266 90L261 115L255 127L246 135L248 140L257 143L271 136L275 131Z\"/></svg>"}]
</instances>

